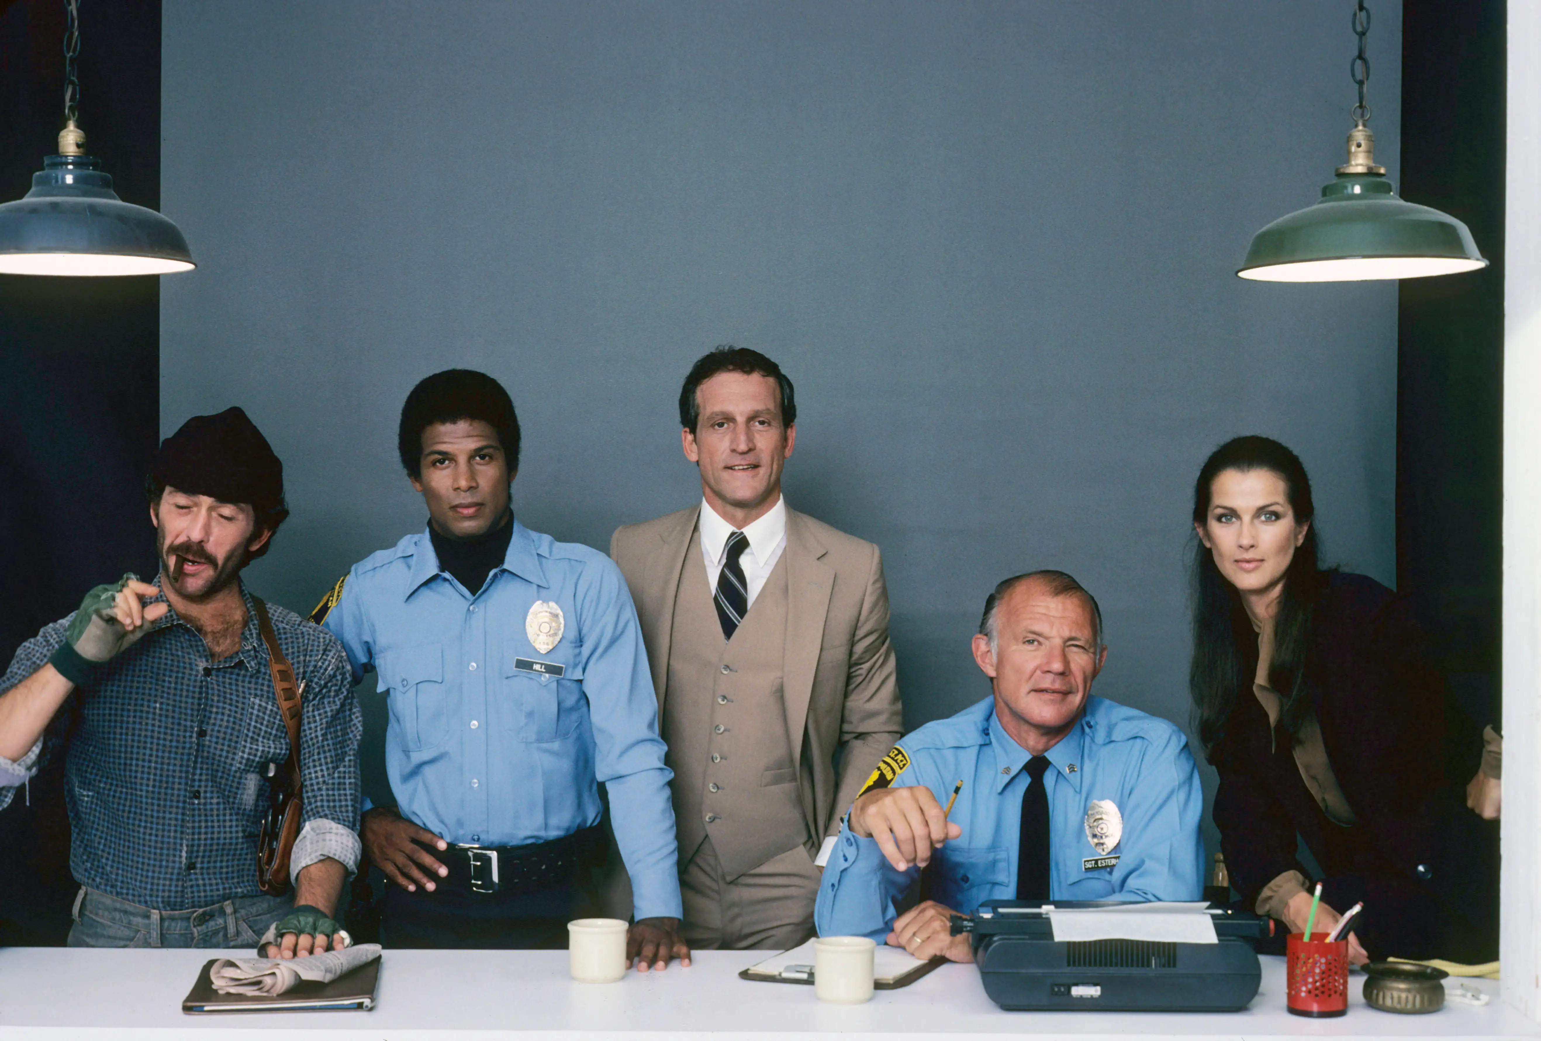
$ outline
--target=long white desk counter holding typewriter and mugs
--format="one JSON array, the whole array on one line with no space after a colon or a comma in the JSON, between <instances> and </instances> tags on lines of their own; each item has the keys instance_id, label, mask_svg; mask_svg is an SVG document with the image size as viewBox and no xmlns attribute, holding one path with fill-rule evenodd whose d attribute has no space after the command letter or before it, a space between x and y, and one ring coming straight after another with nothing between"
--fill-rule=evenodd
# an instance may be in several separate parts
<instances>
[{"instance_id":1,"label":"long white desk counter holding typewriter and mugs","mask_svg":"<svg viewBox=\"0 0 1541 1041\"><path fill-rule=\"evenodd\" d=\"M1099 1038L1541 1038L1541 1027L1498 1003L1498 984L1476 981L1493 1001L1447 1004L1422 1016L1364 1004L1350 978L1348 1015L1305 1019L1284 1010L1284 959L1264 958L1262 990L1236 1013L1002 1012L972 966L943 966L865 1006L828 1006L809 986L747 982L737 973L763 955L701 952L690 969L630 973L618 984L578 984L566 952L390 950L374 1012L182 1013L182 998L206 950L0 949L0 1041L112 1036L126 1041L202 1036L273 1041L413 1041L455 1032L542 1035L549 1041L681 1035L898 1041L942 1036ZM245 952L237 952L245 953Z\"/></svg>"}]
</instances>

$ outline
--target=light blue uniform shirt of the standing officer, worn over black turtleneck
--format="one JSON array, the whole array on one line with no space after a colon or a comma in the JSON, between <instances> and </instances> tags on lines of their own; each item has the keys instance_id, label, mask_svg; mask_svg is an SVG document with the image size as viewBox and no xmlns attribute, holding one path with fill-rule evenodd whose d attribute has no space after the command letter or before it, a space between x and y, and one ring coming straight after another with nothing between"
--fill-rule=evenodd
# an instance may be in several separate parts
<instances>
[{"instance_id":1,"label":"light blue uniform shirt of the standing officer, worn over black turtleneck","mask_svg":"<svg viewBox=\"0 0 1541 1041\"><path fill-rule=\"evenodd\" d=\"M525 633L536 601L564 619L544 653ZM410 534L348 571L325 627L353 681L373 668L390 691L402 816L448 842L544 842L598 824L603 781L636 916L681 916L673 773L636 608L607 556L513 520L502 567L473 594L439 570L427 531Z\"/></svg>"}]
</instances>

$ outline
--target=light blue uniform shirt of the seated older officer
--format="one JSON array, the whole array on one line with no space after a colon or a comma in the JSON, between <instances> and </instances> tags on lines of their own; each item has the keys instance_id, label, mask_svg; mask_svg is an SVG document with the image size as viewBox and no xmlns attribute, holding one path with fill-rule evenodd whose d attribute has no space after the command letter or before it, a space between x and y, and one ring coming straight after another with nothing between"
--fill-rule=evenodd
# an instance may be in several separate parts
<instances>
[{"instance_id":1,"label":"light blue uniform shirt of the seated older officer","mask_svg":"<svg viewBox=\"0 0 1541 1041\"><path fill-rule=\"evenodd\" d=\"M963 781L948 818L963 835L934 853L929 899L965 915L986 899L1014 899L1022 793L1029 782L1022 767L1032 756L1002 728L994 698L926 724L897 748L886 762L908 764L892 787L923 784L945 807ZM1046 755L1053 899L1199 899L1204 792L1177 727L1091 696L1076 727ZM883 784L880 773L874 779ZM1123 835L1106 855L1119 858L1113 867L1086 864L1103 856L1086 835L1094 799L1110 799L1123 818ZM895 870L875 839L843 824L818 887L818 933L883 942L895 904L918 875L915 865Z\"/></svg>"}]
</instances>

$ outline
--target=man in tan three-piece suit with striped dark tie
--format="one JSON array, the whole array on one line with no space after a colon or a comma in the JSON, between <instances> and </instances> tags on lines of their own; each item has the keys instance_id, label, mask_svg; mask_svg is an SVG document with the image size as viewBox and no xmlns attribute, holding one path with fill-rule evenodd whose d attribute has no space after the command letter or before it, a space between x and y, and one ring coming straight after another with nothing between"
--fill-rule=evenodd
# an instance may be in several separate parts
<instances>
[{"instance_id":1,"label":"man in tan three-piece suit with striped dark tie","mask_svg":"<svg viewBox=\"0 0 1541 1041\"><path fill-rule=\"evenodd\" d=\"M814 935L820 853L903 730L877 547L781 499L795 419L769 357L706 354L680 393L703 502L610 541L658 691L698 949Z\"/></svg>"}]
</instances>

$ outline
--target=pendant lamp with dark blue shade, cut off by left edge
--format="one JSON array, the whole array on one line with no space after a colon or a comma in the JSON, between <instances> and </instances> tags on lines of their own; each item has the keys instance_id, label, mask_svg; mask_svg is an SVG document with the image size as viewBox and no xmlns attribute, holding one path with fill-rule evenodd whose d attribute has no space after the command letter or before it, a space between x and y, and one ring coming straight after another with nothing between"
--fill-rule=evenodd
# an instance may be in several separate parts
<instances>
[{"instance_id":1,"label":"pendant lamp with dark blue shade, cut off by left edge","mask_svg":"<svg viewBox=\"0 0 1541 1041\"><path fill-rule=\"evenodd\" d=\"M65 0L65 129L59 154L43 159L25 199L0 206L0 274L171 274L191 271L182 231L154 209L112 191L102 162L85 154L77 126L80 0Z\"/></svg>"}]
</instances>

